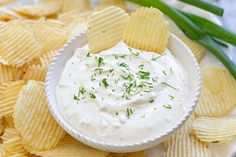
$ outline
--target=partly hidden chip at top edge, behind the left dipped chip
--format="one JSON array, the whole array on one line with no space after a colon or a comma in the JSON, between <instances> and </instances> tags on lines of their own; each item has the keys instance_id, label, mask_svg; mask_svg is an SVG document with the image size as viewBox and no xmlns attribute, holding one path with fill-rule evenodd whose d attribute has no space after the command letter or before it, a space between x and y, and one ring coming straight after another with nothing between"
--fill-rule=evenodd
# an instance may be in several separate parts
<instances>
[{"instance_id":1,"label":"partly hidden chip at top edge, behind the left dipped chip","mask_svg":"<svg viewBox=\"0 0 236 157\"><path fill-rule=\"evenodd\" d=\"M104 9L111 5L122 8L122 9L126 9L124 0L101 0L98 8Z\"/></svg>"}]
</instances>

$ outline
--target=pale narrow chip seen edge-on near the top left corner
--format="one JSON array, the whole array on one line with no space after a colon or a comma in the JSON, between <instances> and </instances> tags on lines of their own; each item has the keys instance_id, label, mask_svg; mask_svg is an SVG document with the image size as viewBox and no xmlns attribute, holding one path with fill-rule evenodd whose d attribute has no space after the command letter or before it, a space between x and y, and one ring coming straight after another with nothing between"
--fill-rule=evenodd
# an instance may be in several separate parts
<instances>
[{"instance_id":1,"label":"pale narrow chip seen edge-on near the top left corner","mask_svg":"<svg viewBox=\"0 0 236 157\"><path fill-rule=\"evenodd\" d=\"M12 8L13 11L26 16L50 16L61 10L61 4L41 2Z\"/></svg>"}]
</instances>

